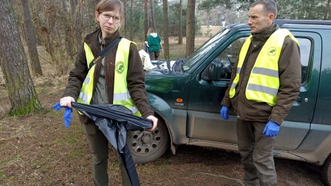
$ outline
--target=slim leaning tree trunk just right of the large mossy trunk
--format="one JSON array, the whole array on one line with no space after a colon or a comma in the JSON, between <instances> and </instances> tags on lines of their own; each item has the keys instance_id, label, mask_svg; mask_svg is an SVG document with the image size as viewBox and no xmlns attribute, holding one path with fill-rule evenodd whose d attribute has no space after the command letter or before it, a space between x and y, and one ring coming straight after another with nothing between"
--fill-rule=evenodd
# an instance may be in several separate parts
<instances>
[{"instance_id":1,"label":"slim leaning tree trunk just right of the large mossy trunk","mask_svg":"<svg viewBox=\"0 0 331 186\"><path fill-rule=\"evenodd\" d=\"M37 39L34 34L34 26L31 20L29 2L28 0L21 0L21 3L23 7L24 25L26 28L28 53L30 55L32 74L34 76L42 76L43 71L41 70L41 65L39 61L39 56L37 51Z\"/></svg>"}]
</instances>

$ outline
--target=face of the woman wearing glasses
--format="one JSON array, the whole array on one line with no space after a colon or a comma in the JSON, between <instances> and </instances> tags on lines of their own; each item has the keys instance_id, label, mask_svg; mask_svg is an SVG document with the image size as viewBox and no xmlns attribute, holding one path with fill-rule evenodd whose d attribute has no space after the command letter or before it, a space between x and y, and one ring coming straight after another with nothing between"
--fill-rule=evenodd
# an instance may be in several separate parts
<instances>
[{"instance_id":1,"label":"face of the woman wearing glasses","mask_svg":"<svg viewBox=\"0 0 331 186\"><path fill-rule=\"evenodd\" d=\"M108 12L95 12L95 17L100 24L102 37L110 37L114 32L119 29L121 25L122 17L119 12L108 11Z\"/></svg>"}]
</instances>

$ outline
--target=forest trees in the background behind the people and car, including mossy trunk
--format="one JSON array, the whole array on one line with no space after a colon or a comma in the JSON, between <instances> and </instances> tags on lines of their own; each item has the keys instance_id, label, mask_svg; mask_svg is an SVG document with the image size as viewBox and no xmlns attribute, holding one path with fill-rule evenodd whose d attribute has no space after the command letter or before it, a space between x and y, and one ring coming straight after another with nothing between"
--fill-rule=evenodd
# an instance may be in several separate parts
<instances>
[{"instance_id":1,"label":"forest trees in the background behind the people and car, including mossy trunk","mask_svg":"<svg viewBox=\"0 0 331 186\"><path fill-rule=\"evenodd\" d=\"M52 75L68 74L83 37L98 27L94 21L94 7L98 1L0 0L0 13L3 15L0 18L1 79L10 97L10 116L25 115L41 109L31 78L31 74L32 77L43 76L40 59L52 65ZM154 28L163 39L163 59L189 56L195 50L195 38L203 35L212 37L214 26L221 29L232 23L245 23L248 8L254 2L122 1L126 12L121 26L122 36L143 43L148 28ZM277 19L330 20L330 0L275 1L279 10ZM203 25L208 29L201 32ZM183 45L184 37L185 52L170 54L170 37L178 37L178 45ZM143 48L143 44L139 46ZM41 50L46 53L42 55Z\"/></svg>"}]
</instances>

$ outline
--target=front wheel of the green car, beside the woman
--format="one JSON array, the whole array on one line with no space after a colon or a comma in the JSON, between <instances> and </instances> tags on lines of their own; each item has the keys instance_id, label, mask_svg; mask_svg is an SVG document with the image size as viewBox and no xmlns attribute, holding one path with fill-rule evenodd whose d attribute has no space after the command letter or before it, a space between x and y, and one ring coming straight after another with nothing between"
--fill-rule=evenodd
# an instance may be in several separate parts
<instances>
[{"instance_id":1,"label":"front wheel of the green car, beside the woman","mask_svg":"<svg viewBox=\"0 0 331 186\"><path fill-rule=\"evenodd\" d=\"M148 163L161 157L168 149L170 143L168 127L159 118L154 131L128 131L126 141L134 163Z\"/></svg>"}]
</instances>

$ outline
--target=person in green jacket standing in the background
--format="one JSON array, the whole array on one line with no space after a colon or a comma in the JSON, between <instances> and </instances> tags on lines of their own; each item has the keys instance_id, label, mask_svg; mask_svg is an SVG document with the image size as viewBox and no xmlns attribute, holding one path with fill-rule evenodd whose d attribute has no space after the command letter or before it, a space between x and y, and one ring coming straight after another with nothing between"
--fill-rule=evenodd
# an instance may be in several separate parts
<instances>
[{"instance_id":1,"label":"person in green jacket standing in the background","mask_svg":"<svg viewBox=\"0 0 331 186\"><path fill-rule=\"evenodd\" d=\"M160 51L163 52L163 48L161 44L161 38L156 32L154 32L153 28L148 29L147 46L150 52L150 59L151 60L159 59Z\"/></svg>"}]
</instances>

